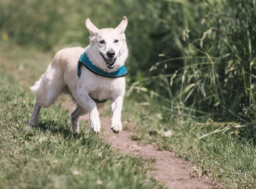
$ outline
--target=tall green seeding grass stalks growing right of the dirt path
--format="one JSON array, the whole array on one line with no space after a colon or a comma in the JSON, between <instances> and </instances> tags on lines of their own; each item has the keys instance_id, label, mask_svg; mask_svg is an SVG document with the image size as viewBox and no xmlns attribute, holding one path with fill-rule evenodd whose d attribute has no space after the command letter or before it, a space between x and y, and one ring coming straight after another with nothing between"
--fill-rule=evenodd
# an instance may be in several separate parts
<instances>
[{"instance_id":1,"label":"tall green seeding grass stalks growing right of the dirt path","mask_svg":"<svg viewBox=\"0 0 256 189\"><path fill-rule=\"evenodd\" d=\"M190 7L190 3L182 2L178 1ZM240 121L247 126L238 129L240 134L251 138L256 126L255 1L204 3L197 7L205 14L193 14L197 27L195 22L188 24L192 13L184 10L188 11L183 13L184 31L177 38L182 56L167 58L165 53L160 54L164 60L149 70L156 76L135 82L131 90L150 91L162 99L169 120ZM212 5L214 8L210 8ZM175 62L180 66L173 70Z\"/></svg>"}]
</instances>

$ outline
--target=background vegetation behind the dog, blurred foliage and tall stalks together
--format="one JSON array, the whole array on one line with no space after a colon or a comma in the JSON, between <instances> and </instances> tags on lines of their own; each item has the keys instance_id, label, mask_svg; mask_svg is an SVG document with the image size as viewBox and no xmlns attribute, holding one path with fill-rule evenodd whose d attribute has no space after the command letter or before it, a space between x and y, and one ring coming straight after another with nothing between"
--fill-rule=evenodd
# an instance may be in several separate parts
<instances>
[{"instance_id":1,"label":"background vegetation behind the dog, blurred foliage and tall stalks together","mask_svg":"<svg viewBox=\"0 0 256 189\"><path fill-rule=\"evenodd\" d=\"M57 52L89 43L128 18L128 92L156 97L165 121L237 121L256 127L255 0L2 0L1 45ZM255 134L254 134L255 133Z\"/></svg>"}]
</instances>

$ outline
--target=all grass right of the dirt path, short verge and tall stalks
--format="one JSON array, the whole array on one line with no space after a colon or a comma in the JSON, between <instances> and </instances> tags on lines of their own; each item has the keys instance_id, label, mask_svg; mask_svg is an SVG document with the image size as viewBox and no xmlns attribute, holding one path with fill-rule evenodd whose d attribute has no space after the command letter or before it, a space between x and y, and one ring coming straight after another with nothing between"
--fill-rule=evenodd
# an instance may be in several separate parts
<instances>
[{"instance_id":1,"label":"all grass right of the dirt path, short verge and tall stalks","mask_svg":"<svg viewBox=\"0 0 256 189\"><path fill-rule=\"evenodd\" d=\"M141 114L132 138L175 151L199 166L198 176L210 173L227 188L256 188L255 1L201 2L214 8L188 12L200 14L191 21L197 27L190 25L183 40L178 38L183 54L161 52L164 60L150 69L154 76L132 85L139 95L147 94L141 104L151 112ZM176 60L182 63L175 71ZM165 137L169 130L172 136Z\"/></svg>"}]
</instances>

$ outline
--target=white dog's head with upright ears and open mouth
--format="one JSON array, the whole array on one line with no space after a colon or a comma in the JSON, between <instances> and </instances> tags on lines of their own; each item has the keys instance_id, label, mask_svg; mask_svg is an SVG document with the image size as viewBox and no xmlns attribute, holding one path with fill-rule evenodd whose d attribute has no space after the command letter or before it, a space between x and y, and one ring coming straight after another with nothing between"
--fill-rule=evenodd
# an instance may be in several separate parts
<instances>
[{"instance_id":1,"label":"white dog's head with upright ears and open mouth","mask_svg":"<svg viewBox=\"0 0 256 189\"><path fill-rule=\"evenodd\" d=\"M115 28L98 29L89 18L85 25L89 30L90 45L86 51L92 63L107 72L112 72L121 67L128 57L128 49L124 31L127 26L124 16L121 23Z\"/></svg>"}]
</instances>

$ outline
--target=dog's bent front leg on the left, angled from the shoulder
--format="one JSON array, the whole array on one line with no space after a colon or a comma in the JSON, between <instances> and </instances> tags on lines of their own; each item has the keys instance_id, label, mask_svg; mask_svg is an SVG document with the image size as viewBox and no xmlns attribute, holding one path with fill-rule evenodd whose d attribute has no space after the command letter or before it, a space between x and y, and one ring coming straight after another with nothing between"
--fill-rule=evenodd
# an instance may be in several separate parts
<instances>
[{"instance_id":1,"label":"dog's bent front leg on the left, angled from the shoulder","mask_svg":"<svg viewBox=\"0 0 256 189\"><path fill-rule=\"evenodd\" d=\"M89 112L89 121L93 132L100 132L100 116L96 107L96 103L89 96L88 90L85 87L78 88L76 91L76 101L79 107L85 112Z\"/></svg>"}]
</instances>

